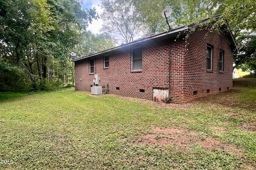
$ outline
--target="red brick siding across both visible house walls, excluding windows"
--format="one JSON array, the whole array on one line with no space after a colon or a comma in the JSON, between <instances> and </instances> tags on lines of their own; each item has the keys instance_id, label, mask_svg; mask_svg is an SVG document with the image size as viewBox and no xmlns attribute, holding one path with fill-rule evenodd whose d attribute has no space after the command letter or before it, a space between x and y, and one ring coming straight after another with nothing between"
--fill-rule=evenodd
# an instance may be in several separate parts
<instances>
[{"instance_id":1,"label":"red brick siding across both visible house walls, excluding windows","mask_svg":"<svg viewBox=\"0 0 256 170\"><path fill-rule=\"evenodd\" d=\"M181 36L174 40L150 40L142 45L141 71L131 69L132 47L108 53L108 68L104 68L104 56L94 57L94 74L100 78L99 86L108 84L110 94L148 100L152 100L153 88L169 89L173 103L186 103L205 96L207 90L216 93L219 88L221 91L232 88L233 57L224 34L197 29L188 39ZM213 47L210 72L206 70L207 45ZM224 72L218 71L220 49L224 51ZM89 59L76 61L76 90L90 91L91 86L95 86L94 74L89 73ZM193 95L195 91L197 94Z\"/></svg>"}]
</instances>

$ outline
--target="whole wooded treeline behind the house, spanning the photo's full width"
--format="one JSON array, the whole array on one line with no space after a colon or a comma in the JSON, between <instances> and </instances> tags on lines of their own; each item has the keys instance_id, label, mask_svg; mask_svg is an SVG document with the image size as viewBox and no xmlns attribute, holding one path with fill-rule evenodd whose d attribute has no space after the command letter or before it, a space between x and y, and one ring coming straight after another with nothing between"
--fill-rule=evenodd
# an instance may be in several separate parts
<instances>
[{"instance_id":1,"label":"whole wooded treeline behind the house, spanning the photo's full width","mask_svg":"<svg viewBox=\"0 0 256 170\"><path fill-rule=\"evenodd\" d=\"M173 10L172 28L222 14L218 24L228 21L241 51L234 62L256 69L255 0L101 0L100 15L82 3L0 0L0 91L51 90L73 82L72 51L78 58L165 31L166 7ZM102 33L94 35L86 27L98 18Z\"/></svg>"}]
</instances>

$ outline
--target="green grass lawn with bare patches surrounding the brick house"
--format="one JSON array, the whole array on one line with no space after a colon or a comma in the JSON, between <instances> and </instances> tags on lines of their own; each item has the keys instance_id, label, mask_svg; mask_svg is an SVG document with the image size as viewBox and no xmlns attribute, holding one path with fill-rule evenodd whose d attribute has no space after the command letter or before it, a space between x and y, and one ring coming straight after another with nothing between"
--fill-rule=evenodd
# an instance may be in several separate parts
<instances>
[{"instance_id":1,"label":"green grass lawn with bare patches surrounding the brick house","mask_svg":"<svg viewBox=\"0 0 256 170\"><path fill-rule=\"evenodd\" d=\"M184 105L74 88L2 99L0 169L254 169L256 79L234 81Z\"/></svg>"}]
</instances>

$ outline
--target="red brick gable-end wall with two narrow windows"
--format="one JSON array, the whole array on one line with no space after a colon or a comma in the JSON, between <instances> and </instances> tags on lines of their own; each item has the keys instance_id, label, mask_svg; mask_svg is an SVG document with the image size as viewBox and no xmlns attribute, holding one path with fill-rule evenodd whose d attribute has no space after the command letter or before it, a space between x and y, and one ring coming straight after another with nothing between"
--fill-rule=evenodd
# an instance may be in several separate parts
<instances>
[{"instance_id":1,"label":"red brick gable-end wall with two narrow windows","mask_svg":"<svg viewBox=\"0 0 256 170\"><path fill-rule=\"evenodd\" d=\"M206 69L207 45L213 47L211 71ZM223 33L197 29L189 36L186 49L184 101L219 92L219 88L221 91L232 88L233 55ZM219 71L220 50L224 51L223 72Z\"/></svg>"}]
</instances>

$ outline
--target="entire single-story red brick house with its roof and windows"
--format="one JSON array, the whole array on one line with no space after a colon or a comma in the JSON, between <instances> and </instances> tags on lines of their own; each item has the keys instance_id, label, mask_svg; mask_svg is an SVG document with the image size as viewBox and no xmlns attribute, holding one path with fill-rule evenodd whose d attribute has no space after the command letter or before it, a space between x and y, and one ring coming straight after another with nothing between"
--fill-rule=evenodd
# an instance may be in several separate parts
<instances>
[{"instance_id":1,"label":"entire single-story red brick house with its roof and windows","mask_svg":"<svg viewBox=\"0 0 256 170\"><path fill-rule=\"evenodd\" d=\"M110 94L181 104L231 89L234 38L207 21L75 59L75 89L90 91L94 74Z\"/></svg>"}]
</instances>

